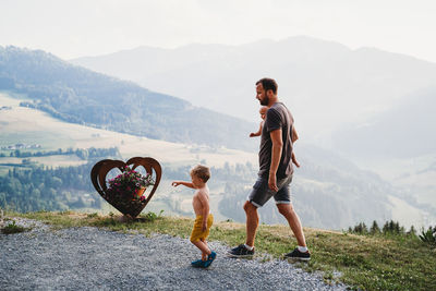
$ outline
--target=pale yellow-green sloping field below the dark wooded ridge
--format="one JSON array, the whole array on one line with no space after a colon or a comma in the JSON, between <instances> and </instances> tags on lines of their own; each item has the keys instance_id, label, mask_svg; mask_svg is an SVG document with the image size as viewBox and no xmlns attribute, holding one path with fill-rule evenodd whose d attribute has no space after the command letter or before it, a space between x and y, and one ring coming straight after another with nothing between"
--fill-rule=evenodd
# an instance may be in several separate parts
<instances>
[{"instance_id":1,"label":"pale yellow-green sloping field below the dark wooded ridge","mask_svg":"<svg viewBox=\"0 0 436 291\"><path fill-rule=\"evenodd\" d=\"M21 100L25 100L25 98L0 92L0 108L3 106L11 107L11 109L0 110L0 147L19 143L25 145L38 144L40 145L38 150L116 146L125 160L134 156L149 156L161 163L170 163L174 167L192 166L201 161L206 161L208 166L216 167L222 167L225 162L230 165L245 163L246 161L253 165L257 163L255 153L169 143L62 122L39 110L19 107ZM1 150L0 153L9 155L10 150ZM7 158L0 158L0 163L8 162L7 160ZM32 158L32 160L35 159ZM56 159L48 158L40 158L35 161L44 165L56 165L57 162ZM66 160L59 161L60 166L68 165ZM71 160L71 165L76 165L76 160Z\"/></svg>"}]
</instances>

